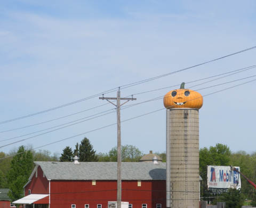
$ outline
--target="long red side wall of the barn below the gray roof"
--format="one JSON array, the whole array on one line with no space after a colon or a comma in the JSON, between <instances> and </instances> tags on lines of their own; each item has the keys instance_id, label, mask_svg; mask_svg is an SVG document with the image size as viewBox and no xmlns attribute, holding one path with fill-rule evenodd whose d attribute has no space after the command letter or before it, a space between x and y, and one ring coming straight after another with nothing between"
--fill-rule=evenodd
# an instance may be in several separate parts
<instances>
[{"instance_id":1,"label":"long red side wall of the barn below the gray roof","mask_svg":"<svg viewBox=\"0 0 256 208\"><path fill-rule=\"evenodd\" d=\"M132 208L141 208L147 204L147 208L156 208L156 204L165 207L166 191L165 181L141 181L138 187L136 181L122 181L122 201L132 204ZM107 208L108 201L116 201L116 181L51 181L51 208L84 208L89 204L90 208Z\"/></svg>"}]
</instances>

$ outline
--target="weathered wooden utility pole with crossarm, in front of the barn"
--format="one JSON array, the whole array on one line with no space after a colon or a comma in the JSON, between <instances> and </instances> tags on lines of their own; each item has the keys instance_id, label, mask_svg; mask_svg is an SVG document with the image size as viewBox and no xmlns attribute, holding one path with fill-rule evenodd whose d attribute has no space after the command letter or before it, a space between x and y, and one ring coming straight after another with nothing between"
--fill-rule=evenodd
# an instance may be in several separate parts
<instances>
[{"instance_id":1,"label":"weathered wooden utility pole with crossarm, in front of the barn","mask_svg":"<svg viewBox=\"0 0 256 208\"><path fill-rule=\"evenodd\" d=\"M120 107L123 106L126 102L130 100L137 100L136 98L121 98L120 95L120 87L117 91L116 98L105 98L104 94L99 99L107 100L114 106L116 106L116 114L117 114L117 208L121 208L122 202L122 179L121 179L121 119L120 119ZM116 100L116 104L109 101ZM126 100L124 103L120 104L120 100Z\"/></svg>"}]
</instances>

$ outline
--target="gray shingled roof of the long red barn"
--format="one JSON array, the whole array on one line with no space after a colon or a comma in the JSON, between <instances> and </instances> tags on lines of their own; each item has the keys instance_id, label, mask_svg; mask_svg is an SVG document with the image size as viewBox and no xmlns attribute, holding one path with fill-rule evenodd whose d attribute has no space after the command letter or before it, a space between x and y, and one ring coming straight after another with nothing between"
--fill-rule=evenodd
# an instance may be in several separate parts
<instances>
[{"instance_id":1,"label":"gray shingled roof of the long red barn","mask_svg":"<svg viewBox=\"0 0 256 208\"><path fill-rule=\"evenodd\" d=\"M116 180L116 162L35 162L51 180ZM122 163L123 180L165 180L165 163Z\"/></svg>"}]
</instances>

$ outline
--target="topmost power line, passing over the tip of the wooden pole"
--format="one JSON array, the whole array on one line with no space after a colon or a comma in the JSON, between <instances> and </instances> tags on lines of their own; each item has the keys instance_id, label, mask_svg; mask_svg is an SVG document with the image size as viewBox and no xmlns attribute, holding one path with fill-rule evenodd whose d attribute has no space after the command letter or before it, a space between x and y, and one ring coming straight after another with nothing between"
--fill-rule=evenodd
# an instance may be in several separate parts
<instances>
[{"instance_id":1,"label":"topmost power line, passing over the tip of the wooden pole","mask_svg":"<svg viewBox=\"0 0 256 208\"><path fill-rule=\"evenodd\" d=\"M194 65L194 66L190 66L190 67L183 68L183 69L180 69L180 70L175 70L175 71L172 71L171 73L167 73L167 74L163 74L163 75L151 77L151 78L148 78L148 79L143 79L142 81L133 82L133 83L130 83L130 84L122 85L122 86L120 86L120 87L121 87L121 89L126 89L126 88L131 87L131 86L135 86L135 85L138 85L138 84L150 82L150 81L153 81L153 80L158 79L158 78L162 78L162 77L169 76L169 75L172 75L172 74L175 74L175 73L179 73L179 72L181 72L181 71L185 71L185 70L188 70L188 69L191 69L191 68L195 68L195 67L198 67L198 66L202 66L202 65L205 65L206 63L210 63L210 62L214 62L214 61L217 61L217 60L220 60L220 59L224 59L224 58L230 57L230 56L232 56L232 55L236 55L236 54L239 54L239 53L243 53L243 52L246 52L246 51L250 51L250 50L253 50L253 49L255 49L255 48L256 48L256 46L253 46L253 47L244 49L244 50L242 50L242 51L237 51L237 52L235 52L235 53L231 53L231 54L228 54L228 55L225 55L225 56L222 56L222 57L219 57L219 58L210 60L210 61L205 61L205 62L199 63L199 64ZM17 118L8 119L8 120L5 120L5 121L0 122L0 124L4 124L4 123L9 123L9 122L17 121L17 120L19 120L19 119L23 119L23 118L35 116L35 115L38 115L38 114L43 114L43 113L46 113L46 112L49 112L49 111L52 111L52 110L56 110L56 109L59 109L59 108L63 108L63 107L66 107L66 106L70 106L70 105L73 105L73 104L78 103L78 102L82 102L82 101L85 101L85 100L89 100L89 99L98 97L99 95L104 94L104 93L114 92L117 88L118 88L118 87L115 87L115 88L113 88L113 89L110 89L110 90L107 90L107 91L103 91L103 92L101 92L101 93L94 94L94 95L91 95L91 96L89 96L89 97L86 97L86 98L83 98L83 99L80 99L80 100L76 100L76 101L73 101L73 102L69 102L69 103L66 103L66 104L63 104L63 105L60 105L60 106L57 106L57 107L49 108L49 109L46 109L46 110L38 111L37 113L28 114L28 115L25 115L25 116L21 116L21 117L17 117Z\"/></svg>"}]
</instances>

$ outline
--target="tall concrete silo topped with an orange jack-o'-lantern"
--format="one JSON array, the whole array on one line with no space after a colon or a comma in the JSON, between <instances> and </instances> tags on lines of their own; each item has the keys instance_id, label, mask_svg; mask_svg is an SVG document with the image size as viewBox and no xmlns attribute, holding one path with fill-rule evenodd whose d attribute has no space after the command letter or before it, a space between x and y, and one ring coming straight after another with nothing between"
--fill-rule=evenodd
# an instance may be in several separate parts
<instances>
[{"instance_id":1,"label":"tall concrete silo topped with an orange jack-o'-lantern","mask_svg":"<svg viewBox=\"0 0 256 208\"><path fill-rule=\"evenodd\" d=\"M166 207L199 207L200 93L184 89L168 92L166 109Z\"/></svg>"}]
</instances>

